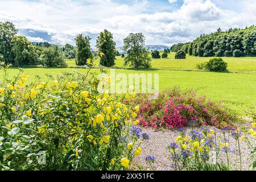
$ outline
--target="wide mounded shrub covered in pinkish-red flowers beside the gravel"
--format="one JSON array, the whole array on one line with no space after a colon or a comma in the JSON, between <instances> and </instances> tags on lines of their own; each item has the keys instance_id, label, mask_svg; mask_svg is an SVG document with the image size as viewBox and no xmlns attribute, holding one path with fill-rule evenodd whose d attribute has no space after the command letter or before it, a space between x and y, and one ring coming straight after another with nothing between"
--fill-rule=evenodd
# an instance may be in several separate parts
<instances>
[{"instance_id":1,"label":"wide mounded shrub covered in pinkish-red flowers beside the gravel","mask_svg":"<svg viewBox=\"0 0 256 182\"><path fill-rule=\"evenodd\" d=\"M233 126L237 119L232 111L226 110L221 103L214 103L205 97L196 96L196 92L181 92L179 88L164 90L157 100L138 94L132 100L140 105L138 118L140 125L155 128L174 128L188 126L190 121L197 125L224 127ZM235 126L234 126L235 127Z\"/></svg>"}]
</instances>

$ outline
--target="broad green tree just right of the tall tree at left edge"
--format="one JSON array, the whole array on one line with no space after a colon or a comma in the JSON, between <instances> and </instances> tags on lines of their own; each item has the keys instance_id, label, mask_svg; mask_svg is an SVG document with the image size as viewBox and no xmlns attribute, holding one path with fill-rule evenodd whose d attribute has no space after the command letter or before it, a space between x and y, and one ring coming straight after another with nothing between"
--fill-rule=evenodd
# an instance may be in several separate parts
<instances>
[{"instance_id":1,"label":"broad green tree just right of the tall tree at left edge","mask_svg":"<svg viewBox=\"0 0 256 182\"><path fill-rule=\"evenodd\" d=\"M14 36L11 50L16 65L36 65L38 63L36 47L24 36Z\"/></svg>"}]
</instances>

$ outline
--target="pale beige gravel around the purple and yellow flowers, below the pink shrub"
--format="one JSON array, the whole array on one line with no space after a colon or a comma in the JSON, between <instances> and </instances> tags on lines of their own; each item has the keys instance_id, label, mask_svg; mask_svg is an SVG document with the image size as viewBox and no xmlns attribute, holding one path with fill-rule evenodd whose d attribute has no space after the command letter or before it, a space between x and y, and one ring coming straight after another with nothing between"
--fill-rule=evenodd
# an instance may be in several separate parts
<instances>
[{"instance_id":1,"label":"pale beige gravel around the purple and yellow flowers, below the pink shrub","mask_svg":"<svg viewBox=\"0 0 256 182\"><path fill-rule=\"evenodd\" d=\"M214 129L214 127L210 127L210 129ZM199 129L196 129L199 130ZM150 135L150 140L143 142L142 147L142 154L141 156L138 156L134 159L133 165L141 165L145 168L148 168L148 164L145 162L145 158L148 155L155 155L156 156L156 163L155 167L157 171L170 171L173 170L171 167L171 162L168 159L168 152L166 150L166 147L171 142L174 142L176 137L179 136L179 131L177 130L155 130L153 128L142 128L142 131L147 132ZM191 128L186 128L186 133L191 131ZM220 133L220 130L218 130L218 135L222 134ZM250 138L251 142L254 143L254 139ZM235 140L230 136L230 142L229 142L230 148L233 150L235 149ZM252 159L250 159L250 149L247 147L246 142L241 143L241 153L242 153L242 170L248 170L250 164L253 162ZM225 152L220 151L220 160L226 162L226 156ZM238 168L240 166L239 163L239 155L237 156L238 161ZM236 154L230 154L230 163L235 169L236 164Z\"/></svg>"}]
</instances>

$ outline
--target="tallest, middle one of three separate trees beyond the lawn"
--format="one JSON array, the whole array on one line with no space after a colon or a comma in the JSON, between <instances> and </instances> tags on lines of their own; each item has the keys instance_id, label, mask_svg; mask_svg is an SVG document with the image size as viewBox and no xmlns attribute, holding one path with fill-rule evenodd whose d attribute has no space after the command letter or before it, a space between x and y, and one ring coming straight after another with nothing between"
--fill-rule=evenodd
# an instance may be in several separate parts
<instances>
[{"instance_id":1,"label":"tallest, middle one of three separate trees beyond the lawn","mask_svg":"<svg viewBox=\"0 0 256 182\"><path fill-rule=\"evenodd\" d=\"M112 33L108 30L101 32L97 37L96 47L99 51L104 53L104 56L100 59L100 64L104 67L112 67L115 64L114 60L117 54Z\"/></svg>"}]
</instances>

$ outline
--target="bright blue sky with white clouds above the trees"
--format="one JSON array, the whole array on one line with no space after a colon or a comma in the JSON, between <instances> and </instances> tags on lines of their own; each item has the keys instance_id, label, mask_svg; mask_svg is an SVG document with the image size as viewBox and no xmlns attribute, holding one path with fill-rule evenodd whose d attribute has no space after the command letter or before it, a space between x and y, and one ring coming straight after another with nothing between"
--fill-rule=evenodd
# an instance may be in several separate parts
<instances>
[{"instance_id":1,"label":"bright blue sky with white clouds above the trees","mask_svg":"<svg viewBox=\"0 0 256 182\"><path fill-rule=\"evenodd\" d=\"M13 22L31 42L73 44L77 34L112 32L117 47L142 32L147 45L190 42L217 28L256 24L256 0L0 0L0 22Z\"/></svg>"}]
</instances>

